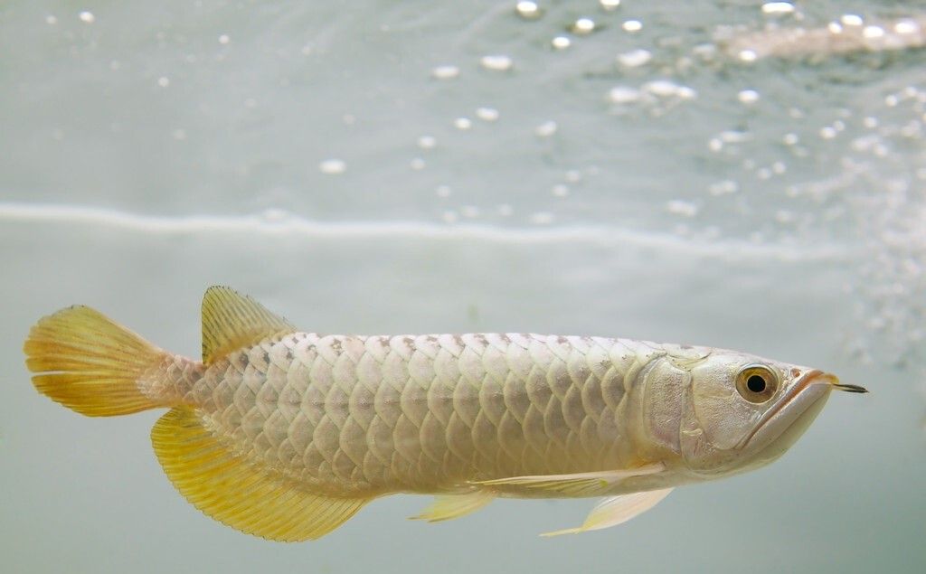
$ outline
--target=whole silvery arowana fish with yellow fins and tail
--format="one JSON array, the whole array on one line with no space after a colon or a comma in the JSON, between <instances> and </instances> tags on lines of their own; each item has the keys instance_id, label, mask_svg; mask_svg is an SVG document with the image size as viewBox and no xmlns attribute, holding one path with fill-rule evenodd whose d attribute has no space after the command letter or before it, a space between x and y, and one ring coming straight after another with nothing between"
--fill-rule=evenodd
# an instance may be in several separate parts
<instances>
[{"instance_id":1,"label":"whole silvery arowana fish with yellow fins and tail","mask_svg":"<svg viewBox=\"0 0 926 574\"><path fill-rule=\"evenodd\" d=\"M314 539L369 501L436 494L419 517L497 496L602 496L585 522L633 518L678 485L782 455L831 374L709 347L600 337L302 332L249 297L203 299L203 361L94 309L41 319L32 382L91 417L167 407L151 433L206 515L270 540Z\"/></svg>"}]
</instances>

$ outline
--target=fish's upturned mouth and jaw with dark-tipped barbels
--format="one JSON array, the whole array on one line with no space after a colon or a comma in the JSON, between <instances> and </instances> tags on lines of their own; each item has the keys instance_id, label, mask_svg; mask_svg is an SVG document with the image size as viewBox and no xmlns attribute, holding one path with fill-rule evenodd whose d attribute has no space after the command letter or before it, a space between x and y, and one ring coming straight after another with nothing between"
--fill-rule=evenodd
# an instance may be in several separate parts
<instances>
[{"instance_id":1,"label":"fish's upturned mouth and jaw with dark-tipped barbels","mask_svg":"<svg viewBox=\"0 0 926 574\"><path fill-rule=\"evenodd\" d=\"M795 443L804 430L807 430L807 426L820 413L833 389L847 393L868 393L864 387L839 382L839 379L830 373L816 368L808 370L777 405L759 418L756 428L747 434L736 448L742 450L753 446L755 442L758 451L766 451L772 445L777 445L778 447L773 449L773 456L781 455ZM772 427L778 432L771 432Z\"/></svg>"}]
</instances>

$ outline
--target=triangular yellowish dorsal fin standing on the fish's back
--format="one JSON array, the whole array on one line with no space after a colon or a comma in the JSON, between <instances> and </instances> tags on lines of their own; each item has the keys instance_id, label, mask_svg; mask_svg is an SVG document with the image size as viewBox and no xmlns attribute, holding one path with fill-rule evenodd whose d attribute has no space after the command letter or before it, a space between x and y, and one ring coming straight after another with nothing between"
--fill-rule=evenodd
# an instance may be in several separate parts
<instances>
[{"instance_id":1,"label":"triangular yellowish dorsal fin standing on the fish's back","mask_svg":"<svg viewBox=\"0 0 926 574\"><path fill-rule=\"evenodd\" d=\"M244 346L296 331L246 295L213 286L203 295L203 362L209 365Z\"/></svg>"}]
</instances>

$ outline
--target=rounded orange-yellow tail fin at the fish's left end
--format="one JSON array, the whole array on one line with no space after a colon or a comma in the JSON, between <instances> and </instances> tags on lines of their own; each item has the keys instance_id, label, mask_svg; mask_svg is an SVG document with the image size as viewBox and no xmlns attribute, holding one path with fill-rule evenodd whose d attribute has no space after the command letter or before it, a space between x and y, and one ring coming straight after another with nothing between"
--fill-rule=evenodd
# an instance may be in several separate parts
<instances>
[{"instance_id":1,"label":"rounded orange-yellow tail fin at the fish's left end","mask_svg":"<svg viewBox=\"0 0 926 574\"><path fill-rule=\"evenodd\" d=\"M138 383L168 354L90 307L72 306L41 319L23 351L39 393L82 415L113 417L164 406Z\"/></svg>"}]
</instances>

